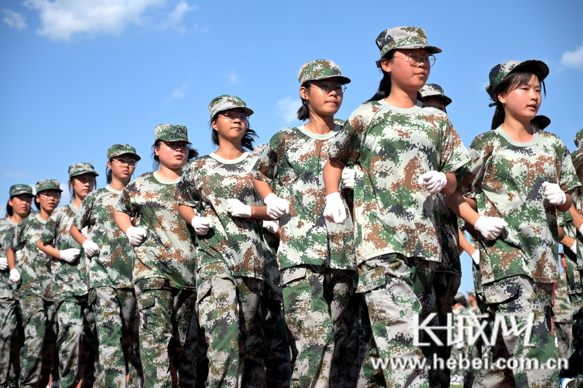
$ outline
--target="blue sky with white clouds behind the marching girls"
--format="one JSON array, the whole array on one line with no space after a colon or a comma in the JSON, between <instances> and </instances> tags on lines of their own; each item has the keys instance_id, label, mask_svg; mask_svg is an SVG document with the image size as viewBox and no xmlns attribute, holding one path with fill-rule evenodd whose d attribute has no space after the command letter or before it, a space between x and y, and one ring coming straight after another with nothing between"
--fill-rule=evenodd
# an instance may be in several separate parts
<instances>
[{"instance_id":1,"label":"blue sky with white clouds behind the marching girls","mask_svg":"<svg viewBox=\"0 0 583 388\"><path fill-rule=\"evenodd\" d=\"M356 4L356 5L355 5ZM583 2L195 2L27 0L0 3L0 201L9 186L66 182L68 166L92 163L106 185L106 151L129 143L152 170L153 129L186 125L201 154L214 149L208 104L233 94L255 111L264 143L296 126L297 72L331 59L349 76L338 118L378 87L378 34L419 26L440 47L429 82L454 101L463 142L490 128L490 69L540 59L550 68L539 113L574 149L583 82ZM66 202L66 198L62 203ZM463 255L462 291L472 288Z\"/></svg>"}]
</instances>

